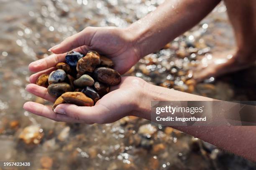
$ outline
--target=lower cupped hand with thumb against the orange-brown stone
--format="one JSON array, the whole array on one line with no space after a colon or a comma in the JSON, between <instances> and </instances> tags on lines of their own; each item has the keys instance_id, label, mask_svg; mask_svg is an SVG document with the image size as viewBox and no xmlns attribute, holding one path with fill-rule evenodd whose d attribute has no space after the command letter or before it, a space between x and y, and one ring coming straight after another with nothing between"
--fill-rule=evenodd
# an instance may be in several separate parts
<instances>
[{"instance_id":1,"label":"lower cupped hand with thumb against the orange-brown stone","mask_svg":"<svg viewBox=\"0 0 256 170\"><path fill-rule=\"evenodd\" d=\"M134 115L142 98L146 82L138 77L122 77L119 85L112 86L110 92L97 101L95 106L60 104L54 111L51 106L36 102L26 102L23 108L36 115L62 122L111 123L127 115ZM54 102L45 87L29 84L28 92Z\"/></svg>"}]
</instances>

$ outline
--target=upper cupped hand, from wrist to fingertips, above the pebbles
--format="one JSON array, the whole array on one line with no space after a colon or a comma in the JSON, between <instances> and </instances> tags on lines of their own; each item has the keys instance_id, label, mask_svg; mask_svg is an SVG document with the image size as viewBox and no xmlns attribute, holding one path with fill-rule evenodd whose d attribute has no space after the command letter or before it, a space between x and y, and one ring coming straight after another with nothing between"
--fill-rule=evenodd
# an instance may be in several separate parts
<instances>
[{"instance_id":1,"label":"upper cupped hand, from wrist to fingertips, above the pebbles","mask_svg":"<svg viewBox=\"0 0 256 170\"><path fill-rule=\"evenodd\" d=\"M53 55L32 62L29 69L39 72L54 67L65 60L71 50L86 54L95 50L115 63L114 69L121 74L127 72L141 58L139 47L134 44L134 35L128 29L116 27L87 27L81 32L66 38L49 50Z\"/></svg>"}]
</instances>

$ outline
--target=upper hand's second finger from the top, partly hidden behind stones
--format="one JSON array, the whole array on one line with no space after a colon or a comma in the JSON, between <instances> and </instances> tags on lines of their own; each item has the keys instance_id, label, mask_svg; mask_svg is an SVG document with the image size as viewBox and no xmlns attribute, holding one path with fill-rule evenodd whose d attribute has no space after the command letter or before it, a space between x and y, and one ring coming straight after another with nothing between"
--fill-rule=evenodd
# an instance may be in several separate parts
<instances>
[{"instance_id":1,"label":"upper hand's second finger from the top, partly hidden behind stones","mask_svg":"<svg viewBox=\"0 0 256 170\"><path fill-rule=\"evenodd\" d=\"M87 49L88 47L84 45L81 47L77 47L76 49L74 49L74 51L81 52L82 54L86 54L88 52ZM38 72L38 71L46 70L50 67L55 67L57 63L65 61L66 55L67 55L66 53L49 55L48 57L31 62L28 65L28 68L31 72Z\"/></svg>"}]
</instances>

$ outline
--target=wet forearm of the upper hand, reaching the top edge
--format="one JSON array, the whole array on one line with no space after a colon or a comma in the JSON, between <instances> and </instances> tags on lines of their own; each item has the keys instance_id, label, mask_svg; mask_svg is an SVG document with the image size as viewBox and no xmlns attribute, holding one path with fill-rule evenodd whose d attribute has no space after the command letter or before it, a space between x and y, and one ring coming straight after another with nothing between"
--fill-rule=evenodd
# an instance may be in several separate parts
<instances>
[{"instance_id":1,"label":"wet forearm of the upper hand, reaching the top edge","mask_svg":"<svg viewBox=\"0 0 256 170\"><path fill-rule=\"evenodd\" d=\"M166 0L154 12L130 25L141 57L196 25L220 0Z\"/></svg>"}]
</instances>

